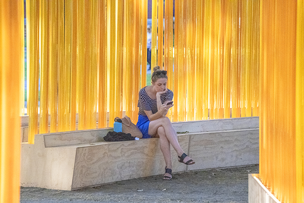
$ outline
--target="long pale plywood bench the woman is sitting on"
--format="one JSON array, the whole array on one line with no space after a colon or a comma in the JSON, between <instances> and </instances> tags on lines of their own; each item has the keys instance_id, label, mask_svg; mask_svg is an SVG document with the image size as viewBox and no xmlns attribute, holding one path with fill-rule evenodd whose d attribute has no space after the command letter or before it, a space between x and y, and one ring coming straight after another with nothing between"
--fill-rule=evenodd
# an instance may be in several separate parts
<instances>
[{"instance_id":1,"label":"long pale plywood bench the woman is sitting on","mask_svg":"<svg viewBox=\"0 0 304 203\"><path fill-rule=\"evenodd\" d=\"M245 122L246 120L246 122ZM194 165L178 162L173 173L258 163L258 118L175 122L182 149ZM201 131L200 131L201 129ZM164 174L159 139L103 142L112 128L37 134L22 143L21 186L74 190Z\"/></svg>"}]
</instances>

